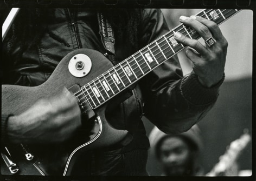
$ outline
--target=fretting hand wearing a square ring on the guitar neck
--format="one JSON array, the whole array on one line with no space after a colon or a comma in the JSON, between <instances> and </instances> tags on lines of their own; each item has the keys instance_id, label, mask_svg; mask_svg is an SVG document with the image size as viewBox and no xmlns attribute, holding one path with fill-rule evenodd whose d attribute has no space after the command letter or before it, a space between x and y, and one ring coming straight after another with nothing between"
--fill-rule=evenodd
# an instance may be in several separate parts
<instances>
[{"instance_id":1,"label":"fretting hand wearing a square ring on the guitar neck","mask_svg":"<svg viewBox=\"0 0 256 181\"><path fill-rule=\"evenodd\" d=\"M193 70L199 78L199 82L210 88L218 83L224 73L228 43L223 37L216 23L199 16L180 17L181 23L193 28L204 41L212 45L202 45L196 39L191 39L179 32L175 33L175 39L183 45L189 46L185 54L193 63Z\"/></svg>"}]
</instances>

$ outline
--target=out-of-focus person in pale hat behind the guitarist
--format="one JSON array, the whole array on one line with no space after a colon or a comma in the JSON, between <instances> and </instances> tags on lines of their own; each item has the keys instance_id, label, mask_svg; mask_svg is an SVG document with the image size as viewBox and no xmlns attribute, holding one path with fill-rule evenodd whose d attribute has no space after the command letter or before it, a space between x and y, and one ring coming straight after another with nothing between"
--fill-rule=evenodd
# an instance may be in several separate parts
<instances>
[{"instance_id":1,"label":"out-of-focus person in pale hat behind the guitarist","mask_svg":"<svg viewBox=\"0 0 256 181\"><path fill-rule=\"evenodd\" d=\"M199 162L202 138L197 125L186 132L171 135L155 127L149 140L152 155L161 165L162 176L203 176Z\"/></svg>"}]
</instances>

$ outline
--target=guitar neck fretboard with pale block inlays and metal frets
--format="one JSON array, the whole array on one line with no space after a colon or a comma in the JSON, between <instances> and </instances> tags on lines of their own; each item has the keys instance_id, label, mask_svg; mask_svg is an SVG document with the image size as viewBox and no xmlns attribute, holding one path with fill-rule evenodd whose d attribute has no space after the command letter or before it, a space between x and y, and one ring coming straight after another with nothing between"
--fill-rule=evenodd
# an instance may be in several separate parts
<instances>
[{"instance_id":1,"label":"guitar neck fretboard with pale block inlays and metal frets","mask_svg":"<svg viewBox=\"0 0 256 181\"><path fill-rule=\"evenodd\" d=\"M197 16L221 24L239 11L236 9L205 9L199 12ZM174 39L175 32L180 32L184 36L193 39L200 38L199 33L195 30L180 24L99 77L93 79L93 81L82 86L81 91L92 109L98 108L107 100L116 96L119 92L137 82L140 78L157 68L157 66L183 50L185 46Z\"/></svg>"}]
</instances>

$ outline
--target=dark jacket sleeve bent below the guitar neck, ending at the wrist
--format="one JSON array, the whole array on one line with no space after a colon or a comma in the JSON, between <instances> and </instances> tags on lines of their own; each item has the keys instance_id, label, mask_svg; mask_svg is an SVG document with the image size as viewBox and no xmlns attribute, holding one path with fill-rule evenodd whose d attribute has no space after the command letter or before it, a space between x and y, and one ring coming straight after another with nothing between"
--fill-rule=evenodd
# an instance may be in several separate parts
<instances>
[{"instance_id":1,"label":"dark jacket sleeve bent below the guitar neck, ending at the wrist","mask_svg":"<svg viewBox=\"0 0 256 181\"><path fill-rule=\"evenodd\" d=\"M213 107L223 79L204 88L192 72L146 98L145 116L166 133L187 131Z\"/></svg>"}]
</instances>

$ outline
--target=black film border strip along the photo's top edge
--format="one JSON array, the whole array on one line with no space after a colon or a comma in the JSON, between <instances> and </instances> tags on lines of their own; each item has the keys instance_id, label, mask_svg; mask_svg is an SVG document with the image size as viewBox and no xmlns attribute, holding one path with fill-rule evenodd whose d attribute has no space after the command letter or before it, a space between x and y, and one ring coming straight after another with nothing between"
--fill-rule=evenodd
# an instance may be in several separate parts
<instances>
[{"instance_id":1,"label":"black film border strip along the photo's top edge","mask_svg":"<svg viewBox=\"0 0 256 181\"><path fill-rule=\"evenodd\" d=\"M254 0L1 0L0 4L8 7L42 7L42 6L86 6L117 8L205 8L206 6L222 6L223 8L255 7Z\"/></svg>"}]
</instances>

